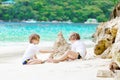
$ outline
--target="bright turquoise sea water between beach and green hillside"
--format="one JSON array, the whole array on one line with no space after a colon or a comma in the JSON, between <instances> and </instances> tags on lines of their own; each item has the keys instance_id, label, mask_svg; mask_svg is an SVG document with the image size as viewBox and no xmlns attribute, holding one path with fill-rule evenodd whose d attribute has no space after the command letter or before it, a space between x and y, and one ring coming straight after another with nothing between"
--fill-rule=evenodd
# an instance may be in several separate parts
<instances>
[{"instance_id":1,"label":"bright turquoise sea water between beach and green hillside","mask_svg":"<svg viewBox=\"0 0 120 80\"><path fill-rule=\"evenodd\" d=\"M26 42L32 33L41 36L42 41L53 41L62 31L66 39L71 32L78 32L81 39L91 39L97 24L82 23L0 23L0 42Z\"/></svg>"}]
</instances>

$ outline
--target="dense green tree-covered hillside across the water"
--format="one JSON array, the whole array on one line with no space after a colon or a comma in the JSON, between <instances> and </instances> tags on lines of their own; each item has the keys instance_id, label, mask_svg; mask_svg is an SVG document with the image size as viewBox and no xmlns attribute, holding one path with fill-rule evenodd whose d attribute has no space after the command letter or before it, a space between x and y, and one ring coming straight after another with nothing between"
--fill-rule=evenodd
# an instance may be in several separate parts
<instances>
[{"instance_id":1,"label":"dense green tree-covered hillside across the water","mask_svg":"<svg viewBox=\"0 0 120 80\"><path fill-rule=\"evenodd\" d=\"M0 2L6 0L0 0ZM72 21L84 22L88 18L107 21L115 0L14 0L16 3L0 4L0 19L4 21Z\"/></svg>"}]
</instances>

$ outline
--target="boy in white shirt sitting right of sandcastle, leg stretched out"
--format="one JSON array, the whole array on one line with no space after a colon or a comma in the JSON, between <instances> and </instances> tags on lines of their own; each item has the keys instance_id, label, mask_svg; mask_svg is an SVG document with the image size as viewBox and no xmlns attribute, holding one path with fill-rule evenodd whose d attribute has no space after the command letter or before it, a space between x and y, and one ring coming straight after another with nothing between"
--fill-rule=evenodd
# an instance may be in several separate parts
<instances>
[{"instance_id":1,"label":"boy in white shirt sitting right of sandcastle, leg stretched out","mask_svg":"<svg viewBox=\"0 0 120 80\"><path fill-rule=\"evenodd\" d=\"M60 62L68 59L83 59L86 56L86 47L80 41L80 35L78 33L72 33L69 38L71 50L66 51L59 59L49 59L48 62Z\"/></svg>"}]
</instances>

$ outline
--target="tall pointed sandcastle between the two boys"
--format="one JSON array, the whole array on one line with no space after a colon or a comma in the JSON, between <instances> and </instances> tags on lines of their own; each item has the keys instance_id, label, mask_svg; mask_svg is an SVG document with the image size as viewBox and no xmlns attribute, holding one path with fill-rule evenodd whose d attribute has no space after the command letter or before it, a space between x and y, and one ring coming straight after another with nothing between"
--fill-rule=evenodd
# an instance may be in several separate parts
<instances>
[{"instance_id":1,"label":"tall pointed sandcastle between the two boys","mask_svg":"<svg viewBox=\"0 0 120 80\"><path fill-rule=\"evenodd\" d=\"M70 49L70 45L66 42L63 37L62 32L58 34L57 40L54 43L53 49L56 50L56 53L53 53L50 57L53 59L59 58L63 55L67 50Z\"/></svg>"}]
</instances>

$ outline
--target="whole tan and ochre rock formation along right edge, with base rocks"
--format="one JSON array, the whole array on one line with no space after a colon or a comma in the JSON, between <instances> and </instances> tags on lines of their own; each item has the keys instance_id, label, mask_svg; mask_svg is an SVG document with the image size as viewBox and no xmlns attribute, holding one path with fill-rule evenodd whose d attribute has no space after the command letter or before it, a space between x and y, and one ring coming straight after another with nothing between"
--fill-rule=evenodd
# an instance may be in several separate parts
<instances>
[{"instance_id":1,"label":"whole tan and ochre rock formation along right edge, with base rocks","mask_svg":"<svg viewBox=\"0 0 120 80\"><path fill-rule=\"evenodd\" d=\"M120 3L115 6L110 21L101 23L92 37L94 53L104 59L112 58L110 70L115 73L114 80L120 80ZM97 74L103 77L110 75L106 71L98 71Z\"/></svg>"}]
</instances>

